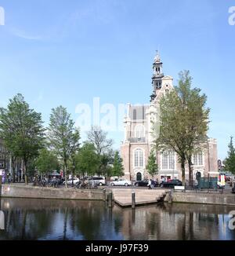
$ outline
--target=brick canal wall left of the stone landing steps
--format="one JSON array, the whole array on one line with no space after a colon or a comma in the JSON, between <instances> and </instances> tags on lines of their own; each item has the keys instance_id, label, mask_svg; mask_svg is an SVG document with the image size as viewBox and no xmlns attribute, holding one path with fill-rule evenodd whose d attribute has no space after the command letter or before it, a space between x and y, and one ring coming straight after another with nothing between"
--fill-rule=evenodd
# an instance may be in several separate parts
<instances>
[{"instance_id":1,"label":"brick canal wall left of the stone landing steps","mask_svg":"<svg viewBox=\"0 0 235 256\"><path fill-rule=\"evenodd\" d=\"M1 193L0 193L1 194ZM31 185L2 185L2 197L29 199L102 200L102 189L40 188Z\"/></svg>"}]
</instances>

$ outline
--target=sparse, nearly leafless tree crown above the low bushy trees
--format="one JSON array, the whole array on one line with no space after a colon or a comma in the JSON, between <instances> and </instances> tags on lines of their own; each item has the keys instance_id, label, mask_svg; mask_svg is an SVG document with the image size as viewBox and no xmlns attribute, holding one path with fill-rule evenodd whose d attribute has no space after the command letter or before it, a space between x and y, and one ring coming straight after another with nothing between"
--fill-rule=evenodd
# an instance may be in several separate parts
<instances>
[{"instance_id":1,"label":"sparse, nearly leafless tree crown above the low bushy trees","mask_svg":"<svg viewBox=\"0 0 235 256\"><path fill-rule=\"evenodd\" d=\"M113 145L112 140L107 139L107 133L99 126L92 126L92 129L87 133L88 141L94 144L97 155L107 153Z\"/></svg>"}]
</instances>

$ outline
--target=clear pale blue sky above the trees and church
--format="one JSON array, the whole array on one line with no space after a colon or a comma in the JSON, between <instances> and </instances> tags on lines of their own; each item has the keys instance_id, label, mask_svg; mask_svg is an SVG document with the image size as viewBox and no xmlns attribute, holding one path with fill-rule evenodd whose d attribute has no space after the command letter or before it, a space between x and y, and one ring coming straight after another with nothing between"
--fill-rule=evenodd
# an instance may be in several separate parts
<instances>
[{"instance_id":1,"label":"clear pale blue sky above the trees and church","mask_svg":"<svg viewBox=\"0 0 235 256\"><path fill-rule=\"evenodd\" d=\"M209 136L226 157L235 136L233 1L0 0L0 105L23 93L45 124L62 104L74 120L77 104L149 102L155 50L164 74L189 69L208 95ZM115 148L121 131L110 132Z\"/></svg>"}]
</instances>

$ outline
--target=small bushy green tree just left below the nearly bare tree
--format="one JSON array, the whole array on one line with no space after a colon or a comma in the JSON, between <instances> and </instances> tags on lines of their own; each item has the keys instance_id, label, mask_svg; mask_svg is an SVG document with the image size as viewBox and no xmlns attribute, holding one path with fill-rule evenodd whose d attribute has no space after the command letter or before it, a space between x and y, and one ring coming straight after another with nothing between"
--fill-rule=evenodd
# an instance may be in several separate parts
<instances>
[{"instance_id":1,"label":"small bushy green tree just left below the nearly bare tree","mask_svg":"<svg viewBox=\"0 0 235 256\"><path fill-rule=\"evenodd\" d=\"M99 157L96 148L91 143L85 143L75 155L75 169L78 174L94 175L99 167Z\"/></svg>"}]
</instances>

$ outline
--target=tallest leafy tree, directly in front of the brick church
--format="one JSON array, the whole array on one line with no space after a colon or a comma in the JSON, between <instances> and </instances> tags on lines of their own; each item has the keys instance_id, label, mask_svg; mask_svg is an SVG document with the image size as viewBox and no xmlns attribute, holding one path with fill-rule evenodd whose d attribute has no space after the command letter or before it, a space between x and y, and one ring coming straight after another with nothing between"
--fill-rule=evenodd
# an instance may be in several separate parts
<instances>
[{"instance_id":1,"label":"tallest leafy tree, directly in front of the brick church","mask_svg":"<svg viewBox=\"0 0 235 256\"><path fill-rule=\"evenodd\" d=\"M190 72L182 71L175 90L161 97L160 134L157 138L162 150L173 150L178 154L184 185L186 161L191 166L193 152L204 146L207 140L210 112L205 108L207 97L201 95L200 89L191 89L191 85Z\"/></svg>"}]
</instances>

